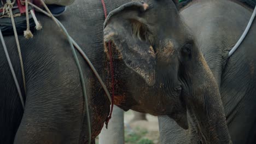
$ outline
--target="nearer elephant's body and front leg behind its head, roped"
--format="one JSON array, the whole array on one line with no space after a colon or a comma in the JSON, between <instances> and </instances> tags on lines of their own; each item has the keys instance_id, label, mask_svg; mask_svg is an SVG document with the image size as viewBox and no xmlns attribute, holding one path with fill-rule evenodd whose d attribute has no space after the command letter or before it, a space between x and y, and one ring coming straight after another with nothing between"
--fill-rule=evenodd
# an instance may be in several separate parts
<instances>
[{"instance_id":1,"label":"nearer elephant's body and front leg behind its head, roped","mask_svg":"<svg viewBox=\"0 0 256 144\"><path fill-rule=\"evenodd\" d=\"M125 2L112 1L110 4L106 1L107 10L113 10ZM25 110L22 110L7 59L0 46L0 143L86 143L88 128L87 122L82 122L82 86L71 48L61 29L49 17L40 13L37 17L43 25L42 31L35 32L30 40L19 35L26 76ZM110 75L107 76L104 67L106 55L101 2L75 1L58 19L109 86ZM4 39L25 95L15 38L9 35ZM89 65L78 56L86 82L93 140L108 116L109 102Z\"/></svg>"}]
</instances>

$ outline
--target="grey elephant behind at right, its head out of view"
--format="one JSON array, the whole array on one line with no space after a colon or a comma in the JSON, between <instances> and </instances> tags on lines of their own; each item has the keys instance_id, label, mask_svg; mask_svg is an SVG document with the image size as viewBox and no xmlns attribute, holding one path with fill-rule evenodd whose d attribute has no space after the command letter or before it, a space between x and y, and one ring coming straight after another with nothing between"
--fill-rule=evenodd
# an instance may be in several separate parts
<instances>
[{"instance_id":1,"label":"grey elephant behind at right, its head out of view","mask_svg":"<svg viewBox=\"0 0 256 144\"><path fill-rule=\"evenodd\" d=\"M252 9L222 0L195 1L181 10L218 82L229 134L237 144L256 142L255 20L234 55L228 58L228 52L245 30L251 14ZM161 143L215 143L203 139L192 115L188 113L188 130L167 116L159 117Z\"/></svg>"}]
</instances>

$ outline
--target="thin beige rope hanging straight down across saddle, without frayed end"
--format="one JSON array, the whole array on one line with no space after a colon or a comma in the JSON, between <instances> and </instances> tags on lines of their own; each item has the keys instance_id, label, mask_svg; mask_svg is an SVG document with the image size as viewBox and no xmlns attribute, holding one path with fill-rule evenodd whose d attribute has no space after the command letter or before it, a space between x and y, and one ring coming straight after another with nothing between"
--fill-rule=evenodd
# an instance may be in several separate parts
<instances>
[{"instance_id":1,"label":"thin beige rope hanging straight down across saddle, without frayed end","mask_svg":"<svg viewBox=\"0 0 256 144\"><path fill-rule=\"evenodd\" d=\"M15 2L15 1L14 1ZM11 24L13 25L13 31L14 31L14 35L15 35L15 41L16 41L16 44L17 44L17 49L18 49L18 53L19 53L19 59L20 59L20 67L21 67L21 74L22 74L22 79L23 79L23 85L24 85L24 91L26 93L26 79L25 79L25 71L24 71L24 65L23 65L23 60L22 60L22 55L21 55L21 50L20 50L20 43L19 43L19 38L18 38L18 33L17 33L17 30L16 30L16 26L15 26L15 21L14 21L14 17L13 17L13 11L12 11L12 8L13 8L13 3L10 3L10 0L7 1L7 4L9 6L7 6L7 11L10 15L10 18L11 18ZM23 99L22 100L22 103L24 103Z\"/></svg>"}]
</instances>

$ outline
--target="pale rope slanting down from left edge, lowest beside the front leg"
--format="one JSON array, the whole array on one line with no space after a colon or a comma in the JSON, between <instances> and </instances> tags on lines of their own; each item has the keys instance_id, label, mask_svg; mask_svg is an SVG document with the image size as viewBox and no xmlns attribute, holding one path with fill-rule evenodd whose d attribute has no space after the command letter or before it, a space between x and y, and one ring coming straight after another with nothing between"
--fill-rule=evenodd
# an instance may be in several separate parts
<instances>
[{"instance_id":1,"label":"pale rope slanting down from left edge, lowest beside the front leg","mask_svg":"<svg viewBox=\"0 0 256 144\"><path fill-rule=\"evenodd\" d=\"M9 56L9 53L7 51L7 47L6 47L5 42L4 42L4 38L3 38L1 28L0 28L0 38L1 38L1 42L2 42L2 45L3 45L4 52L5 52L5 56L7 58L7 61L8 61L10 70L11 70L11 74L13 75L14 83L16 85L16 88L17 88L17 91L18 91L18 94L19 94L19 97L20 97L22 108L24 109L24 107L25 107L24 99L23 99L21 91L20 91L20 85L19 85L18 79L17 79L15 71L13 69L13 64L10 61L10 56Z\"/></svg>"}]
</instances>

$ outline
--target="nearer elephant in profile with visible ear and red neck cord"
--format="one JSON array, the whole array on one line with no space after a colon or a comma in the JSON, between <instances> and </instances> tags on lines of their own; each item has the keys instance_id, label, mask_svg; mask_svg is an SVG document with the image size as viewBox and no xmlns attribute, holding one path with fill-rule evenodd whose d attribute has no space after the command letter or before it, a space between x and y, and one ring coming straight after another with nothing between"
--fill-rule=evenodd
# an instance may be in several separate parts
<instances>
[{"instance_id":1,"label":"nearer elephant in profile with visible ear and red neck cord","mask_svg":"<svg viewBox=\"0 0 256 144\"><path fill-rule=\"evenodd\" d=\"M194 116L204 121L203 130L213 131L211 140L229 142L217 82L174 2L105 3L106 20L103 4L95 0L75 1L58 19L83 47L109 91L115 88L113 103L125 111L167 115L184 129L187 110L200 110ZM0 143L94 143L109 114L108 98L78 56L88 95L88 137L82 86L67 38L48 17L38 14L38 19L43 31L30 40L19 36L26 77L24 111L0 49ZM4 39L25 95L14 36Z\"/></svg>"}]
</instances>

